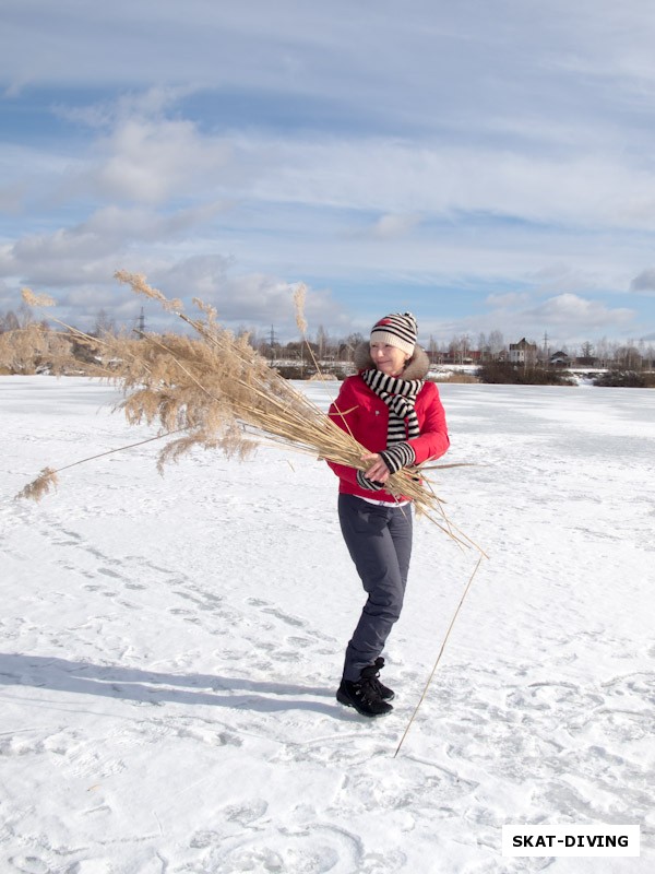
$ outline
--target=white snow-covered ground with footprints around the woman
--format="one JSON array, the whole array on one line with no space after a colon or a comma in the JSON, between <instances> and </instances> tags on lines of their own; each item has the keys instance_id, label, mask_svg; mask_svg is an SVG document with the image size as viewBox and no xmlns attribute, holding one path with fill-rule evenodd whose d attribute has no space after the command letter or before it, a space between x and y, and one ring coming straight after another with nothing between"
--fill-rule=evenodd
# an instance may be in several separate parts
<instances>
[{"instance_id":1,"label":"white snow-covered ground with footprints around the woman","mask_svg":"<svg viewBox=\"0 0 655 874\"><path fill-rule=\"evenodd\" d=\"M300 383L299 383L300 385ZM335 385L305 383L326 403ZM156 444L83 378L0 378L0 871L655 870L655 392L443 385L437 491L488 553L416 528L369 721L334 699L362 592L336 479ZM639 859L505 859L504 823L640 824Z\"/></svg>"}]
</instances>

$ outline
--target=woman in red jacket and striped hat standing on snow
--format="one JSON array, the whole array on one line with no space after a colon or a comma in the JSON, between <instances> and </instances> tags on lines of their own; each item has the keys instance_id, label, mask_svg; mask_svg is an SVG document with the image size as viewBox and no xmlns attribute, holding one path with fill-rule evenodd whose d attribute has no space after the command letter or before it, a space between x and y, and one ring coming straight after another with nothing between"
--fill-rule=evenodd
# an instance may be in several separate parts
<instances>
[{"instance_id":1,"label":"woman in red jacket and striped hat standing on snow","mask_svg":"<svg viewBox=\"0 0 655 874\"><path fill-rule=\"evenodd\" d=\"M330 408L333 421L369 451L366 471L330 463L340 479L342 533L368 599L346 649L336 698L366 717L393 708L382 685L380 653L401 615L412 553L412 505L384 491L392 473L442 456L449 447L443 406L429 361L416 345L416 319L394 312L376 322L370 343L356 351L348 377Z\"/></svg>"}]
</instances>

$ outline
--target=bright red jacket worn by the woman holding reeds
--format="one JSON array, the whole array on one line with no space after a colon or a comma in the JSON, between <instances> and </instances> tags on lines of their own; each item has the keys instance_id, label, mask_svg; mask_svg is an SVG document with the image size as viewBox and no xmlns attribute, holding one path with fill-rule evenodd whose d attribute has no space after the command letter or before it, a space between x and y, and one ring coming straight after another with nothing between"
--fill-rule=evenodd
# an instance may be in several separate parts
<instances>
[{"instance_id":1,"label":"bright red jacket worn by the woman holding reeds","mask_svg":"<svg viewBox=\"0 0 655 874\"><path fill-rule=\"evenodd\" d=\"M418 392L414 409L418 417L420 436L407 440L416 454L416 463L428 459L440 458L450 446L445 425L445 413L439 398L439 390L433 382L426 382ZM340 415L343 413L344 415ZM344 380L337 399L330 406L330 417L343 430L350 430L355 439L370 452L386 449L386 427L389 408L381 398L369 389L364 379L349 376ZM388 500L396 498L381 489L373 492L361 488L357 483L357 470L345 464L327 464L338 476L338 491L360 498Z\"/></svg>"}]
</instances>

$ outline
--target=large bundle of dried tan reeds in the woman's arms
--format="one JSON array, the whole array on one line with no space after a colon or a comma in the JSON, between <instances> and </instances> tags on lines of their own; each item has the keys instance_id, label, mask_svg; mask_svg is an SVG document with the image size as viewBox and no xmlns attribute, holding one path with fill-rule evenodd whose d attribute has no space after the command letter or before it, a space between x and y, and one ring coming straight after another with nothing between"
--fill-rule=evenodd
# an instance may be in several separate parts
<instances>
[{"instance_id":1,"label":"large bundle of dried tan reeds in the woman's arms","mask_svg":"<svg viewBox=\"0 0 655 874\"><path fill-rule=\"evenodd\" d=\"M179 300L168 299L151 287L144 275L119 271L116 277L136 294L157 300L195 332L192 336L143 334L138 341L115 336L100 341L105 347L103 357L111 364L109 370L107 365L99 368L98 375L123 389L126 399L120 406L128 421L158 423L164 437L180 434L159 452L159 470L195 446L218 447L228 457L245 458L261 442L366 470L361 460L367 452L365 447L281 377L249 345L247 336L236 336L223 328L212 307L194 299L201 316L190 318ZM307 328L303 295L300 286L296 308L302 333ZM84 336L76 332L78 340ZM93 342L97 344L97 338ZM57 472L45 469L21 496L40 497L56 483ZM397 497L410 498L419 513L457 542L469 543L449 522L443 501L420 466L401 469L385 487Z\"/></svg>"}]
</instances>

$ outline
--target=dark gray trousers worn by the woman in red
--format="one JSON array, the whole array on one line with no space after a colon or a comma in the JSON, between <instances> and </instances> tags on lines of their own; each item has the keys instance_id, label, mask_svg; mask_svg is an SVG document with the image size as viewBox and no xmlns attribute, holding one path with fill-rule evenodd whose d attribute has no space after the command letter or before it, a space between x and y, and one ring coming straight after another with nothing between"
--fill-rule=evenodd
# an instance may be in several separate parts
<instances>
[{"instance_id":1,"label":"dark gray trousers worn by the woman in red","mask_svg":"<svg viewBox=\"0 0 655 874\"><path fill-rule=\"evenodd\" d=\"M359 680L384 649L401 615L412 556L412 505L381 507L338 496L342 533L368 594L346 649L344 680Z\"/></svg>"}]
</instances>

